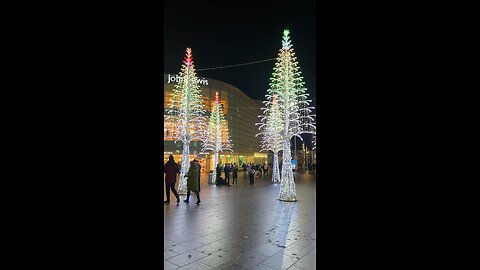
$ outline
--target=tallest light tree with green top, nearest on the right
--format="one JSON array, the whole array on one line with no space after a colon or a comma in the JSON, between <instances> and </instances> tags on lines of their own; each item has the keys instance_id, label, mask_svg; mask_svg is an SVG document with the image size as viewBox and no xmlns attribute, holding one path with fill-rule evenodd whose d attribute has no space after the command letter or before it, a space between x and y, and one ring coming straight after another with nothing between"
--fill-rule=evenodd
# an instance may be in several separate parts
<instances>
[{"instance_id":1,"label":"tallest light tree with green top, nearest on the right","mask_svg":"<svg viewBox=\"0 0 480 270\"><path fill-rule=\"evenodd\" d=\"M283 143L282 175L280 183L279 200L296 201L297 194L293 178L291 163L290 141L297 136L302 141L300 134L314 133L313 107L309 107L308 93L304 87L303 77L300 76L298 62L296 61L289 30L283 31L282 48L278 53L277 62L270 78L270 88L267 99L275 94L282 111L282 130L280 132Z\"/></svg>"}]
</instances>

